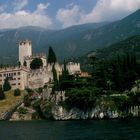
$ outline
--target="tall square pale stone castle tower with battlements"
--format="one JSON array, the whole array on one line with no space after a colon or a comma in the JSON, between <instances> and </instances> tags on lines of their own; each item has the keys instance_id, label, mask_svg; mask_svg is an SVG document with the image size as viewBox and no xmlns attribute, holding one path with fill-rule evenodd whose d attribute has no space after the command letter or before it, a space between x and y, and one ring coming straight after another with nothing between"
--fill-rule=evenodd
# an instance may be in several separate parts
<instances>
[{"instance_id":1,"label":"tall square pale stone castle tower with battlements","mask_svg":"<svg viewBox=\"0 0 140 140\"><path fill-rule=\"evenodd\" d=\"M32 42L29 40L19 42L19 62L21 65L24 63L25 57L32 56Z\"/></svg>"}]
</instances>

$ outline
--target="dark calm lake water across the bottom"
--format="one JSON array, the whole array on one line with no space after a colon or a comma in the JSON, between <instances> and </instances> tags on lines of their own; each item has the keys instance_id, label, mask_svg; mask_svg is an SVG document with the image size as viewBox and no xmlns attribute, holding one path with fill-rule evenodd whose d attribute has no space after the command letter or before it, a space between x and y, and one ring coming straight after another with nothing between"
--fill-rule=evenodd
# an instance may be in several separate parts
<instances>
[{"instance_id":1,"label":"dark calm lake water across the bottom","mask_svg":"<svg viewBox=\"0 0 140 140\"><path fill-rule=\"evenodd\" d=\"M140 119L0 121L0 140L140 140Z\"/></svg>"}]
</instances>

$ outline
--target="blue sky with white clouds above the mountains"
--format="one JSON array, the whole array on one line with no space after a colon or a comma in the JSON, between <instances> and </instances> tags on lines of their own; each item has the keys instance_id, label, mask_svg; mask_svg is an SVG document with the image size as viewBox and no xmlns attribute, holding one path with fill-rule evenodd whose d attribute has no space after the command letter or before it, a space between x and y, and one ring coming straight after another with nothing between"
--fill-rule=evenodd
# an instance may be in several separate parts
<instances>
[{"instance_id":1,"label":"blue sky with white clouds above the mountains","mask_svg":"<svg viewBox=\"0 0 140 140\"><path fill-rule=\"evenodd\" d=\"M140 0L0 0L0 29L115 21L140 8Z\"/></svg>"}]
</instances>

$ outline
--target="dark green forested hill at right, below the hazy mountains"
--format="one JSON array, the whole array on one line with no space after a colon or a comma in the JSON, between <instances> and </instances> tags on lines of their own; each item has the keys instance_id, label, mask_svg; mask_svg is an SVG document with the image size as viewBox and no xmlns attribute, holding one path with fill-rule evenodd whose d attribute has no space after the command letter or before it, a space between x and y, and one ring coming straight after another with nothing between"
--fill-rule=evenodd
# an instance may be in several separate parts
<instances>
[{"instance_id":1,"label":"dark green forested hill at right, below the hazy mountains","mask_svg":"<svg viewBox=\"0 0 140 140\"><path fill-rule=\"evenodd\" d=\"M129 37L123 41L114 43L109 47L87 53L86 55L79 57L77 61L81 63L84 70L87 70L90 67L89 63L91 58L110 60L127 54L134 54L137 60L140 60L140 35Z\"/></svg>"}]
</instances>

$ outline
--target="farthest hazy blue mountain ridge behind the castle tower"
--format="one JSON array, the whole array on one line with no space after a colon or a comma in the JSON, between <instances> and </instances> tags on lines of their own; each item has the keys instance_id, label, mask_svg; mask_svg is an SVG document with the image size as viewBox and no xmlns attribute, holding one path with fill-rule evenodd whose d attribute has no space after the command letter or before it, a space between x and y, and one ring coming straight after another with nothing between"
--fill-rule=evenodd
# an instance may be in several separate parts
<instances>
[{"instance_id":1,"label":"farthest hazy blue mountain ridge behind the castle tower","mask_svg":"<svg viewBox=\"0 0 140 140\"><path fill-rule=\"evenodd\" d=\"M46 30L40 27L21 27L18 29L0 30L0 63L11 63L17 61L18 57L18 41L32 40L33 52L46 53L51 45L55 47L56 54L59 55L59 50L63 49L65 40L70 40L70 36L79 36L83 31L95 29L105 25L99 24L84 24L72 26L63 30ZM67 51L66 51L67 53ZM62 56L63 54L60 53ZM64 55L65 56L65 55Z\"/></svg>"}]
</instances>

